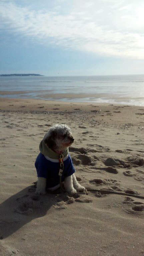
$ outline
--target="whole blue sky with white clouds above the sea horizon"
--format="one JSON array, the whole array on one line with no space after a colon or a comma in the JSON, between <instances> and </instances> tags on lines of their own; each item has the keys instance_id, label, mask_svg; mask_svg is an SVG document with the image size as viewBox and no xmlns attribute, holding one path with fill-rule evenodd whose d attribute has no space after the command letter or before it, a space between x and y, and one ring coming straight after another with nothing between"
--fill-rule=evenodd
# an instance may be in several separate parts
<instances>
[{"instance_id":1,"label":"whole blue sky with white clouds above the sea horizon","mask_svg":"<svg viewBox=\"0 0 144 256\"><path fill-rule=\"evenodd\" d=\"M0 74L144 74L143 0L0 0Z\"/></svg>"}]
</instances>

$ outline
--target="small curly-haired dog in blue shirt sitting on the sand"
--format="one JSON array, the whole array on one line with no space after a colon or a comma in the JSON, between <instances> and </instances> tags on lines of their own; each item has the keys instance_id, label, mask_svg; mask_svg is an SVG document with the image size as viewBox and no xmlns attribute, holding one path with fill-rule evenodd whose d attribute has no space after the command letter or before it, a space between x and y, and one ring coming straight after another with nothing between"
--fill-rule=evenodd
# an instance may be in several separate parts
<instances>
[{"instance_id":1,"label":"small curly-haired dog in blue shirt sitting on the sand","mask_svg":"<svg viewBox=\"0 0 144 256\"><path fill-rule=\"evenodd\" d=\"M70 194L86 191L74 175L75 168L68 151L73 142L71 130L65 124L56 124L46 133L39 145L40 153L35 162L38 176L36 194L44 195L47 189L54 191L60 187L60 162L63 162L61 181L65 190Z\"/></svg>"}]
</instances>

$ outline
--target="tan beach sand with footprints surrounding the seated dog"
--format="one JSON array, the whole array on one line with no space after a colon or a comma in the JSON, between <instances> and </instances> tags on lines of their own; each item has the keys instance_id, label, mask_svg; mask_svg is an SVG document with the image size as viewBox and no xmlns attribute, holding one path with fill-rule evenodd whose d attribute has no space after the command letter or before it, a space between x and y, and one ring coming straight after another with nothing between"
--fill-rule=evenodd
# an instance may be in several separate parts
<instances>
[{"instance_id":1,"label":"tan beach sand with footprints surrounding the seated dog","mask_svg":"<svg viewBox=\"0 0 144 256\"><path fill-rule=\"evenodd\" d=\"M0 99L1 255L144 255L144 107ZM65 123L88 190L35 195L49 127Z\"/></svg>"}]
</instances>

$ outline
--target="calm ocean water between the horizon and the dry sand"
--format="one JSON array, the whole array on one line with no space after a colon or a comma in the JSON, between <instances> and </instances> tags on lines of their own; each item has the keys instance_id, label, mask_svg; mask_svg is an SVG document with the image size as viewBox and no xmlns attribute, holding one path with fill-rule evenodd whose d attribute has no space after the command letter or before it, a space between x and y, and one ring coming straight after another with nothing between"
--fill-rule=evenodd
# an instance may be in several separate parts
<instances>
[{"instance_id":1,"label":"calm ocean water between the horizon and the dry sand","mask_svg":"<svg viewBox=\"0 0 144 256\"><path fill-rule=\"evenodd\" d=\"M144 75L0 77L0 97L144 106Z\"/></svg>"}]
</instances>

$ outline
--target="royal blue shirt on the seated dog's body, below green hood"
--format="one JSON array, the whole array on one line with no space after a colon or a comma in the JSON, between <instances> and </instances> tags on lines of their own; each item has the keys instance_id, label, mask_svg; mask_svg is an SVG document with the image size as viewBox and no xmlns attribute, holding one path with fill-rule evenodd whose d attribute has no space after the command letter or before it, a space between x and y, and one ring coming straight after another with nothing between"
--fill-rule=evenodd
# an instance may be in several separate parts
<instances>
[{"instance_id":1,"label":"royal blue shirt on the seated dog's body, below green hood","mask_svg":"<svg viewBox=\"0 0 144 256\"><path fill-rule=\"evenodd\" d=\"M62 181L64 181L65 177L68 177L75 172L70 154L68 154L68 158L63 162L63 164L64 170L62 173ZM47 179L47 188L51 188L59 184L60 176L58 173L60 169L60 163L52 162L48 160L42 153L39 153L35 161L35 167L37 176Z\"/></svg>"}]
</instances>

